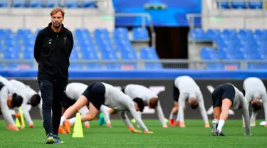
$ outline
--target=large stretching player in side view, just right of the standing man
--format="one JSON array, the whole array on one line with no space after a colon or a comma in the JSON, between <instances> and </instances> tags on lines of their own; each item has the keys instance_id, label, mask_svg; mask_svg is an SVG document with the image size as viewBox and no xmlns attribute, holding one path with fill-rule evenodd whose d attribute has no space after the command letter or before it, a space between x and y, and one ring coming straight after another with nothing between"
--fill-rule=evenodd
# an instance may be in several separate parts
<instances>
[{"instance_id":1,"label":"large stretching player in side view, just right of the standing man","mask_svg":"<svg viewBox=\"0 0 267 148\"><path fill-rule=\"evenodd\" d=\"M89 114L82 115L81 120L94 120L95 116L98 114L101 105L106 105L117 112L120 112L120 116L122 120L125 122L127 127L132 132L141 132L136 130L130 123L126 115L126 111L129 111L132 116L135 118L136 122L140 127L144 130L145 134L151 134L144 122L142 122L141 118L137 115L137 111L142 111L144 109L144 102L140 98L135 98L132 100L129 96L122 93L122 91L114 88L112 85L107 83L94 82L91 83L88 88L80 95L79 99L75 102L74 105L68 108L66 112L64 112L61 120L63 120L64 127L67 131L69 131L69 125L66 121L68 117L73 115L73 113L80 110L81 107L87 105L89 103Z\"/></svg>"}]
</instances>

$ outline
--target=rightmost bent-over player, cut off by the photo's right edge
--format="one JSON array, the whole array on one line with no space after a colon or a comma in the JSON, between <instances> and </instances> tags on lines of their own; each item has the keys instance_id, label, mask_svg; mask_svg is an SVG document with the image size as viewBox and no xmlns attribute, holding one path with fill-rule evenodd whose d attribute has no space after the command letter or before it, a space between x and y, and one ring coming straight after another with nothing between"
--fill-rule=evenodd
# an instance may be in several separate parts
<instances>
[{"instance_id":1,"label":"rightmost bent-over player, cut off by the photo's right edge","mask_svg":"<svg viewBox=\"0 0 267 148\"><path fill-rule=\"evenodd\" d=\"M251 104L252 107L251 127L256 126L256 116L262 106L264 108L265 121L267 121L267 93L261 79L255 77L246 78L243 84L243 93L248 101L248 106ZM265 126L267 127L267 124Z\"/></svg>"}]
</instances>

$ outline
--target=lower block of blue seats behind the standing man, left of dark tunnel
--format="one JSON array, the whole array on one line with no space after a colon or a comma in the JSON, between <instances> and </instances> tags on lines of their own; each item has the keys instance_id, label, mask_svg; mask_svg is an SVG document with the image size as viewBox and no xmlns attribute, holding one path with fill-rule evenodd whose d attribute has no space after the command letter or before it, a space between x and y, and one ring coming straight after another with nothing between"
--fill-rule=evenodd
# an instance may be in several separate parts
<instances>
[{"instance_id":1,"label":"lower block of blue seats behind the standing man, left of dark tunnel","mask_svg":"<svg viewBox=\"0 0 267 148\"><path fill-rule=\"evenodd\" d=\"M39 31L39 30L38 30ZM0 29L0 56L6 60L34 60L33 46L38 31L31 32L30 29L18 29L15 33L11 29ZM109 33L105 28L98 28L91 33L86 28L77 28L73 32L75 45L70 56L71 60L135 60L129 63L71 63L70 68L108 68L121 69L122 67L137 68L136 60L153 59L159 57L155 48L146 47L135 50L128 38L127 28L115 28L115 31ZM133 28L133 41L149 40L146 29ZM1 63L2 68L33 68L33 63ZM145 68L162 68L159 63L145 63Z\"/></svg>"}]
</instances>

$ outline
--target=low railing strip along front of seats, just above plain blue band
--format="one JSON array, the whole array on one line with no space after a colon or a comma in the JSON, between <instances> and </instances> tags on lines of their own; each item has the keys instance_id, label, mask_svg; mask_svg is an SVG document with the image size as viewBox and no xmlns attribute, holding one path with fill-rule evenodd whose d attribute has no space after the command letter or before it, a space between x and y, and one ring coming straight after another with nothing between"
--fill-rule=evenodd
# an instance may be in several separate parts
<instances>
[{"instance_id":1,"label":"low railing strip along front of seats, just above plain blue band","mask_svg":"<svg viewBox=\"0 0 267 148\"><path fill-rule=\"evenodd\" d=\"M35 60L4 60L1 59L0 63L2 65L8 65L9 63L19 63L17 68L1 67L0 69L31 69L30 67L23 66L31 64L33 69L37 69L38 65ZM74 63L83 64L85 67L72 67ZM105 65L107 63L120 63L121 67L116 68L105 68L105 67L95 67L95 68L86 68L86 64L101 64ZM154 64L154 65L150 65ZM134 67L133 65L136 65ZM157 65L157 66L155 66ZM209 66L208 66L209 65ZM267 60L169 60L169 59L140 59L140 60L70 60L70 69L80 69L80 70L92 70L92 69L108 69L108 70L167 70L167 69L191 69L191 70L209 70L211 65L216 66L212 70L251 70L258 69L264 70L267 69ZM250 66L248 66L250 65ZM251 66L253 65L253 66ZM261 65L261 66L259 66ZM261 68L260 68L261 67Z\"/></svg>"}]
</instances>

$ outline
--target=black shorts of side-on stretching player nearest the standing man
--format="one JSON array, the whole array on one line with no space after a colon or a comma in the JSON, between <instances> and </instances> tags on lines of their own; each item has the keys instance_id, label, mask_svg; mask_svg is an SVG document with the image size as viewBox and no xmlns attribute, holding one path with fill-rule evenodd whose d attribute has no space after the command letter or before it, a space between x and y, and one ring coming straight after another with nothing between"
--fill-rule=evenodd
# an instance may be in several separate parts
<instances>
[{"instance_id":1,"label":"black shorts of side-on stretching player nearest the standing man","mask_svg":"<svg viewBox=\"0 0 267 148\"><path fill-rule=\"evenodd\" d=\"M96 109L100 110L101 105L105 103L105 85L100 82L90 83L83 94Z\"/></svg>"}]
</instances>

